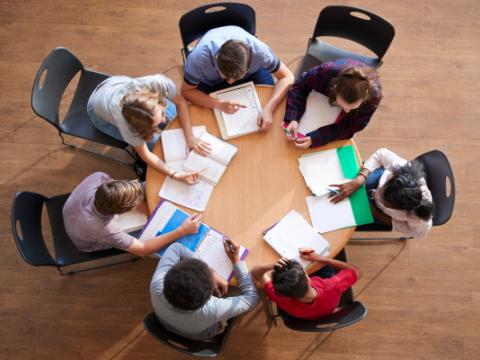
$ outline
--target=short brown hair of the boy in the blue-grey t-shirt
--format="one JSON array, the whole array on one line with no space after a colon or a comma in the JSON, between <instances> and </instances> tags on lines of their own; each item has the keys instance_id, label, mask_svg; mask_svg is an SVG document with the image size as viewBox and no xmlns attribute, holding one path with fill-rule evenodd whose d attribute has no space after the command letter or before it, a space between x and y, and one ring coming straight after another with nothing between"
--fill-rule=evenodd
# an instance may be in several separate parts
<instances>
[{"instance_id":1,"label":"short brown hair of the boy in the blue-grey t-shirt","mask_svg":"<svg viewBox=\"0 0 480 360\"><path fill-rule=\"evenodd\" d=\"M217 65L226 79L240 80L248 72L251 62L250 47L240 40L228 40L218 50Z\"/></svg>"}]
</instances>

